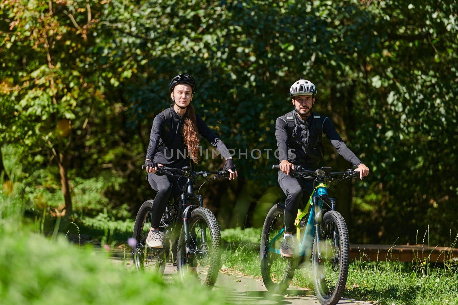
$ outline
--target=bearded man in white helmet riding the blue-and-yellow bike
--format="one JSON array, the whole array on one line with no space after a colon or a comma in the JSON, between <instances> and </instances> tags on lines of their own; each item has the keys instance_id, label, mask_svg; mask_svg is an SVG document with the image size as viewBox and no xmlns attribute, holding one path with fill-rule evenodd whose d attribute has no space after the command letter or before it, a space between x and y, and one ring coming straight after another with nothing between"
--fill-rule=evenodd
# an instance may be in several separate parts
<instances>
[{"instance_id":1,"label":"bearded man in white helmet riding the blue-and-yellow bike","mask_svg":"<svg viewBox=\"0 0 458 305\"><path fill-rule=\"evenodd\" d=\"M300 79L289 89L289 96L294 110L277 118L275 136L278 146L278 183L286 195L284 210L284 239L280 253L284 257L293 257L296 241L292 233L294 220L297 215L300 200L309 198L312 193L312 183L289 176L294 165L303 169L316 170L322 161L324 148L322 135L326 134L338 153L351 162L355 171L360 172L360 179L369 174L369 168L349 150L337 133L331 120L316 112L312 112L315 103L316 87L309 80Z\"/></svg>"}]
</instances>

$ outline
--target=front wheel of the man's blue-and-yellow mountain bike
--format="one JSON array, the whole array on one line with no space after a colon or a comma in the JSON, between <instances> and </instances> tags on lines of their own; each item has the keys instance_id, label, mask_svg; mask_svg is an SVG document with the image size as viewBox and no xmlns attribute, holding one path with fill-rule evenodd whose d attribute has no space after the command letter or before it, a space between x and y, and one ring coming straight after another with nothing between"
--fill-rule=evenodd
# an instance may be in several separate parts
<instances>
[{"instance_id":1,"label":"front wheel of the man's blue-and-yellow mountain bike","mask_svg":"<svg viewBox=\"0 0 458 305\"><path fill-rule=\"evenodd\" d=\"M349 237L344 217L337 211L324 214L320 242L313 242L312 268L315 293L322 305L333 305L342 297L349 268Z\"/></svg>"}]
</instances>

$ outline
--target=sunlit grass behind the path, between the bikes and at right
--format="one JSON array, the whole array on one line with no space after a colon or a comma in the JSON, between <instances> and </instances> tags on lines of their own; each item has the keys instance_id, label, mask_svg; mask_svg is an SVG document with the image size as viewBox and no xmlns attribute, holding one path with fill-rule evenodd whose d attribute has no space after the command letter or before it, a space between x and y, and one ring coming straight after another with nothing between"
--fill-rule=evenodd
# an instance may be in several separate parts
<instances>
[{"instance_id":1,"label":"sunlit grass behind the path, between the bikes and at right","mask_svg":"<svg viewBox=\"0 0 458 305\"><path fill-rule=\"evenodd\" d=\"M227 229L222 233L225 245L222 262L227 268L261 277L259 241L261 229ZM350 263L344 297L378 301L379 304L458 304L458 260L441 268L428 262ZM309 268L298 269L292 285L311 287Z\"/></svg>"}]
</instances>

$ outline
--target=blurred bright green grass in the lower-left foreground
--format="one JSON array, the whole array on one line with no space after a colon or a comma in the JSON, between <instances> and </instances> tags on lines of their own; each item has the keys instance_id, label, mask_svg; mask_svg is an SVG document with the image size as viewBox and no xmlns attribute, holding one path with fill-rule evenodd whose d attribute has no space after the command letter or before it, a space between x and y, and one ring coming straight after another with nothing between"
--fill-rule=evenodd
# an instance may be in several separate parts
<instances>
[{"instance_id":1,"label":"blurred bright green grass in the lower-left foreground","mask_svg":"<svg viewBox=\"0 0 458 305\"><path fill-rule=\"evenodd\" d=\"M0 190L0 304L222 304L220 291L166 284L155 273L114 265L92 246L33 232L14 186Z\"/></svg>"}]
</instances>

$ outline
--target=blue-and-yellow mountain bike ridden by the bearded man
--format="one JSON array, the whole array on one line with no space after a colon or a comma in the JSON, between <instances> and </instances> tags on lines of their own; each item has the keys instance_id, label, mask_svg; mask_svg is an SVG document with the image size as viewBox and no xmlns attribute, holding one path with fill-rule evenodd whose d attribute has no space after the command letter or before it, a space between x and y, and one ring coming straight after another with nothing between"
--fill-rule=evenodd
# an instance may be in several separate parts
<instances>
[{"instance_id":1,"label":"blue-and-yellow mountain bike ridden by the bearded man","mask_svg":"<svg viewBox=\"0 0 458 305\"><path fill-rule=\"evenodd\" d=\"M280 255L284 235L284 203L275 204L267 213L261 234L261 273L266 288L282 294L288 289L295 269L312 267L316 297L323 305L336 304L344 292L349 268L349 236L336 201L328 196L327 183L359 177L358 171L331 172L330 167L316 171L295 166L291 177L313 180L313 192L304 209L299 209L294 225L298 240L298 255L286 258ZM280 169L274 165L273 169Z\"/></svg>"}]
</instances>

